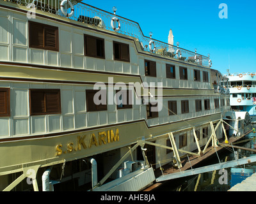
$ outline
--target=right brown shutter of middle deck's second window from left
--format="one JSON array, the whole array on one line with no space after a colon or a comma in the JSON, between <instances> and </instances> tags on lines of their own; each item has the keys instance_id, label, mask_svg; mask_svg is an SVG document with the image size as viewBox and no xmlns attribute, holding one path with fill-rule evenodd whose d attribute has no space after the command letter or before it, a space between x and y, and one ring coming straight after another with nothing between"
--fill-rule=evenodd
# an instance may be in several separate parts
<instances>
[{"instance_id":1,"label":"right brown shutter of middle deck's second window from left","mask_svg":"<svg viewBox=\"0 0 256 204\"><path fill-rule=\"evenodd\" d=\"M45 112L61 113L60 90L45 92Z\"/></svg>"}]
</instances>

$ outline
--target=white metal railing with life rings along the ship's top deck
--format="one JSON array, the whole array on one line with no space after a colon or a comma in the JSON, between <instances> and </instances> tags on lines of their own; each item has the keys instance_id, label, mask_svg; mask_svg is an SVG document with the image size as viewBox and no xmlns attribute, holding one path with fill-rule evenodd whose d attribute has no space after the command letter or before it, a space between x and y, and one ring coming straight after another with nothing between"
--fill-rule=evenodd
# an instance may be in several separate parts
<instances>
[{"instance_id":1,"label":"white metal railing with life rings along the ship's top deck","mask_svg":"<svg viewBox=\"0 0 256 204\"><path fill-rule=\"evenodd\" d=\"M61 1L62 0L0 0L0 1L9 1L11 3L17 3L19 5L30 7L35 5L36 10L42 10L45 12L53 13L56 15L63 15L61 12ZM124 17L120 17L113 13L109 13L108 11L100 10L94 6L90 6L85 3L81 3L80 1L69 0L74 6L74 14L70 17L67 17L71 20L76 20L82 22L84 24L95 25L98 27L102 27L103 29L113 31L111 27L111 20L113 17L117 17L120 22L120 29L117 33L125 34L128 36L132 36L134 38L138 38L141 43L141 48L147 52L154 52L159 55L164 55L166 57L172 57L174 59L179 59L180 61L192 62L195 64L199 64L202 66L211 67L211 62L209 62L209 57L204 55L196 54L196 52L191 52L184 48L179 48L174 45L170 45L168 43L164 43L162 41L158 41L152 38L148 38L144 36L141 31L140 25L137 22L129 20ZM67 13L71 13L70 6L66 3L64 8ZM115 22L116 23L116 22ZM117 26L116 26L117 27ZM154 46L152 46L152 50L149 49L149 42L153 40L156 46L156 49L153 50Z\"/></svg>"}]
</instances>

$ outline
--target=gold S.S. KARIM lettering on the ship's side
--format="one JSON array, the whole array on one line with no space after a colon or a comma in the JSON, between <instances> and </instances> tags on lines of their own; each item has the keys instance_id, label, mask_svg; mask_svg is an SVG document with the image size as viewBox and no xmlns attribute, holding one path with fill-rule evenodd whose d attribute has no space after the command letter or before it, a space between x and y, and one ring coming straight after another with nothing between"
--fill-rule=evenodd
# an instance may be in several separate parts
<instances>
[{"instance_id":1,"label":"gold S.S. KARIM lettering on the ship's side","mask_svg":"<svg viewBox=\"0 0 256 204\"><path fill-rule=\"evenodd\" d=\"M74 142L67 143L66 150L62 144L56 145L56 156L60 156L61 154L73 152L76 150L81 150L92 147L98 147L100 145L106 145L111 142L118 142L119 141L119 130L116 129L115 133L113 129L108 131L100 131L98 134L91 133L90 139L88 140L88 144L86 145L85 141L86 135L77 136L77 146L74 145Z\"/></svg>"}]
</instances>

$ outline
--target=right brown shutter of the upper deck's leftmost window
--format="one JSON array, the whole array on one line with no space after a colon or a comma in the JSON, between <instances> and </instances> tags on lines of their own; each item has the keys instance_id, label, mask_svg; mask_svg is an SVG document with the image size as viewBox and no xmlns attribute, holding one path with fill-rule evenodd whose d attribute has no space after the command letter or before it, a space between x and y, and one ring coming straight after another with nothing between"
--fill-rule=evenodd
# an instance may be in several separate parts
<instances>
[{"instance_id":1,"label":"right brown shutter of the upper deck's leftmost window","mask_svg":"<svg viewBox=\"0 0 256 204\"><path fill-rule=\"evenodd\" d=\"M53 27L45 26L44 30L44 40L45 40L45 48L58 49L58 29L54 29Z\"/></svg>"}]
</instances>

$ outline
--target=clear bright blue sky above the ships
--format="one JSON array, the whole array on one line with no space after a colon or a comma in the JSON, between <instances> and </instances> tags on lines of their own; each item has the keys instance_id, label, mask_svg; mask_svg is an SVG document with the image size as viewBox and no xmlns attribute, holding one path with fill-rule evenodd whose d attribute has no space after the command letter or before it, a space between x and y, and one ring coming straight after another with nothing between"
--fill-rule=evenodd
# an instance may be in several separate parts
<instances>
[{"instance_id":1,"label":"clear bright blue sky above the ships","mask_svg":"<svg viewBox=\"0 0 256 204\"><path fill-rule=\"evenodd\" d=\"M256 72L255 0L158 0L83 1L140 24L145 36L168 42L170 29L174 43L198 54L211 54L212 68L227 73ZM228 18L219 18L221 3L227 4Z\"/></svg>"}]
</instances>

